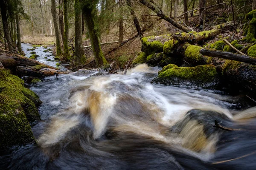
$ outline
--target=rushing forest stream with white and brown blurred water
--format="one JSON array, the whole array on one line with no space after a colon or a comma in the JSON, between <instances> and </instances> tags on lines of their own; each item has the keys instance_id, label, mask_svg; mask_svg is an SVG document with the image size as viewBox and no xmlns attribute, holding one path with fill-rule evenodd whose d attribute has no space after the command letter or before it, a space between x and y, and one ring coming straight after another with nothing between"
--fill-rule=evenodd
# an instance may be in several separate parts
<instances>
[{"instance_id":1,"label":"rushing forest stream with white and brown blurred water","mask_svg":"<svg viewBox=\"0 0 256 170\"><path fill-rule=\"evenodd\" d=\"M42 51L38 61L55 66ZM159 70L79 70L32 85L43 102L37 144L0 153L0 169L255 169L256 108L238 110L239 96L222 91L152 85Z\"/></svg>"}]
</instances>

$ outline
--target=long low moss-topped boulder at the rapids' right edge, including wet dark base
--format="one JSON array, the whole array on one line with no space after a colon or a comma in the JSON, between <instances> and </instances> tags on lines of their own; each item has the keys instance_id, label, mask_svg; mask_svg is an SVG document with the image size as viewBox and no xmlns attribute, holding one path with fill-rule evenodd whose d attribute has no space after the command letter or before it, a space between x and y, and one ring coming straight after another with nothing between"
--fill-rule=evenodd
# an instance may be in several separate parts
<instances>
[{"instance_id":1,"label":"long low moss-topped boulder at the rapids' right edge, including wet dark base","mask_svg":"<svg viewBox=\"0 0 256 170\"><path fill-rule=\"evenodd\" d=\"M159 71L158 76L151 83L192 88L215 88L218 82L218 73L214 65L178 67L169 64Z\"/></svg>"}]
</instances>

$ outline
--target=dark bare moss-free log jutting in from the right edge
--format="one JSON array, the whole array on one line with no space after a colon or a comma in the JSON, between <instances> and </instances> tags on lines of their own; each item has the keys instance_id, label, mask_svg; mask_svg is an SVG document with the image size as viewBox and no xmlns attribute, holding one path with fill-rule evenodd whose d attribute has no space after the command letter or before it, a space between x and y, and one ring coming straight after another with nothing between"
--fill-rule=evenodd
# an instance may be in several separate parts
<instances>
[{"instance_id":1,"label":"dark bare moss-free log jutting in from the right edge","mask_svg":"<svg viewBox=\"0 0 256 170\"><path fill-rule=\"evenodd\" d=\"M209 56L209 57L218 57L218 58L223 58L223 59L231 59L234 61L240 61L240 62L246 62L252 65L256 65L256 58L246 56L246 55L241 55L241 54L234 54L226 51L216 51L216 50L207 50L202 48L200 50L200 53Z\"/></svg>"}]
</instances>

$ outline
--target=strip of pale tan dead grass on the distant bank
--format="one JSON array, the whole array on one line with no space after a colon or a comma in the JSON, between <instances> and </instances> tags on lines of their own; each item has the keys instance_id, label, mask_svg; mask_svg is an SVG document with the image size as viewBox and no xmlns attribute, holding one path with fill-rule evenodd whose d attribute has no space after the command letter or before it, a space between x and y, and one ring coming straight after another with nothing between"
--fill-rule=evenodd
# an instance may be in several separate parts
<instances>
[{"instance_id":1,"label":"strip of pale tan dead grass on the distant bank","mask_svg":"<svg viewBox=\"0 0 256 170\"><path fill-rule=\"evenodd\" d=\"M53 45L55 37L43 35L28 35L21 37L21 42L30 43L32 45Z\"/></svg>"}]
</instances>

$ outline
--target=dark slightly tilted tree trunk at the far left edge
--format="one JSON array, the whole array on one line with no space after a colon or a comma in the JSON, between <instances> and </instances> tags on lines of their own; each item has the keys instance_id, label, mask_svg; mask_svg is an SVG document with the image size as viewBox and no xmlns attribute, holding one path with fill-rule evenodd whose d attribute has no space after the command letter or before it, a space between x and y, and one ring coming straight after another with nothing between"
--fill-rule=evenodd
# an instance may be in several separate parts
<instances>
[{"instance_id":1,"label":"dark slightly tilted tree trunk at the far left edge","mask_svg":"<svg viewBox=\"0 0 256 170\"><path fill-rule=\"evenodd\" d=\"M14 48L12 46L12 39L11 39L11 35L9 32L9 27L8 27L8 20L7 20L7 16L6 16L6 4L4 3L3 0L0 0L0 9L1 9L1 15L2 15L4 36L6 38L6 42L8 44L9 50L14 52Z\"/></svg>"}]
</instances>

